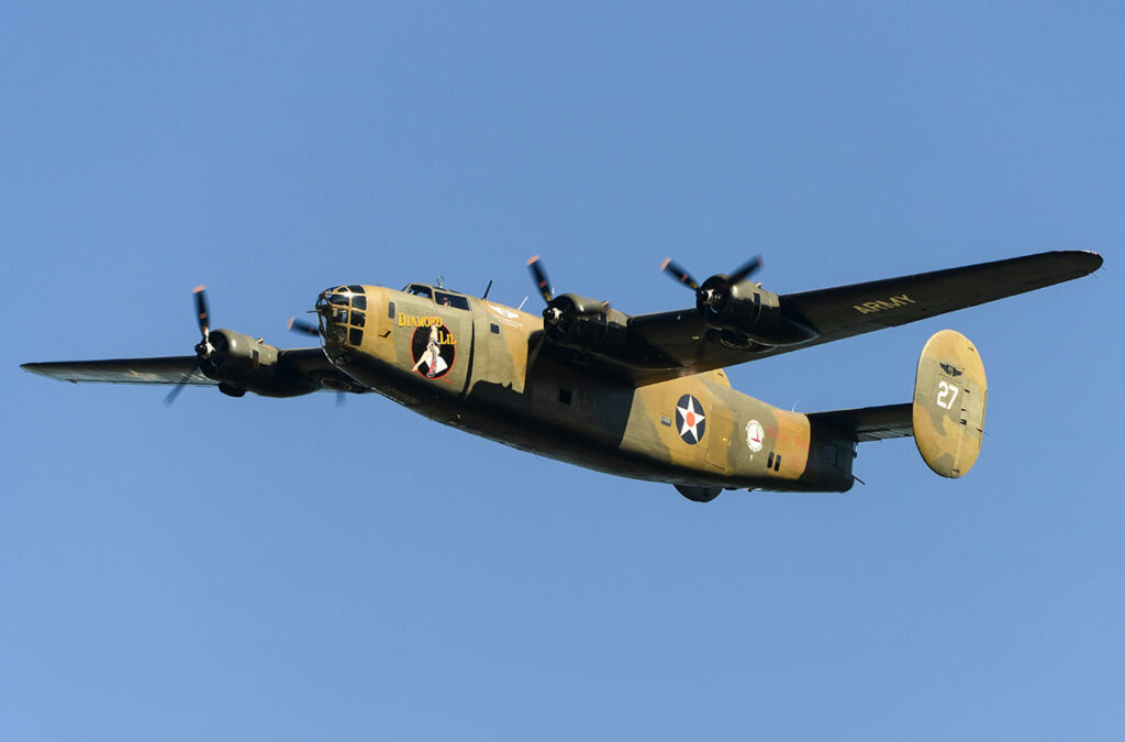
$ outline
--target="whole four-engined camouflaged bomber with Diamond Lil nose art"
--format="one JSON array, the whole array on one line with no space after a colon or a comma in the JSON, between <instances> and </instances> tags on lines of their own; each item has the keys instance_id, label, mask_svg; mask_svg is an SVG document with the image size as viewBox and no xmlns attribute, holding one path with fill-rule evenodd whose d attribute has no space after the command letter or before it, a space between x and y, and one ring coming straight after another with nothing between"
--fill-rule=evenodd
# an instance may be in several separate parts
<instances>
[{"instance_id":1,"label":"whole four-engined camouflaged bomber with Diamond Lil nose art","mask_svg":"<svg viewBox=\"0 0 1125 742\"><path fill-rule=\"evenodd\" d=\"M24 364L68 382L217 385L231 396L376 392L444 424L592 470L675 485L698 502L722 490L846 492L864 441L914 436L946 477L975 463L988 385L976 348L942 330L918 360L914 400L800 413L731 388L723 368L897 327L1086 276L1094 252L1060 251L795 294L752 283L759 258L699 283L665 272L695 305L628 315L556 295L530 314L447 289L349 284L321 293L317 324L290 321L318 347L282 349L212 330L195 293L195 355ZM489 285L490 286L490 285Z\"/></svg>"}]
</instances>

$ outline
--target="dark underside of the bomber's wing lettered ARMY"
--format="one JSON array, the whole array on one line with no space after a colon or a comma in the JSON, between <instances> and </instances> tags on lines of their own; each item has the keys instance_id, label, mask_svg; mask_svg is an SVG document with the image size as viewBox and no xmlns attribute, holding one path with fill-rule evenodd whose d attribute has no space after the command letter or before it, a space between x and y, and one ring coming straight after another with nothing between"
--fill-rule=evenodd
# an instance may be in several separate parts
<instances>
[{"instance_id":1,"label":"dark underside of the bomber's wing lettered ARMY","mask_svg":"<svg viewBox=\"0 0 1125 742\"><path fill-rule=\"evenodd\" d=\"M925 320L1005 296L1043 288L1094 272L1101 256L1086 251L1044 252L899 278L850 284L778 297L783 318L816 333L799 345L738 349L721 343L694 309L630 318L629 334L646 364L622 359L609 375L652 384L688 374L768 358L873 330ZM652 359L656 359L655 361ZM603 367L613 366L601 359ZM615 374L613 372L616 372Z\"/></svg>"}]
</instances>

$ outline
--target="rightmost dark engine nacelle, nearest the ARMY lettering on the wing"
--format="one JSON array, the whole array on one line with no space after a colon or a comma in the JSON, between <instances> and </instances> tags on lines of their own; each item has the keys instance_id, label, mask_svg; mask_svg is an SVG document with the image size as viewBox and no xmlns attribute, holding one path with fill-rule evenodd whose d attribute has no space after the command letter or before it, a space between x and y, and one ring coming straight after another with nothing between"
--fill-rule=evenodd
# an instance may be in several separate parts
<instances>
[{"instance_id":1,"label":"rightmost dark engine nacelle, nearest the ARMY lettering on the wing","mask_svg":"<svg viewBox=\"0 0 1125 742\"><path fill-rule=\"evenodd\" d=\"M696 293L695 307L709 328L744 336L760 346L795 346L816 331L782 315L781 300L750 281L724 287L727 276L711 276Z\"/></svg>"}]
</instances>

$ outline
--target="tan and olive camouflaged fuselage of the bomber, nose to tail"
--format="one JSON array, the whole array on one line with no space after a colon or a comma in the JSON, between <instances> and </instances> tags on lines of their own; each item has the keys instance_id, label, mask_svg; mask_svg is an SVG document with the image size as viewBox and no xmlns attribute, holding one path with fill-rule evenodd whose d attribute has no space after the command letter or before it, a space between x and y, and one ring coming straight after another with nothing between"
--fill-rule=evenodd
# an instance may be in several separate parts
<instances>
[{"instance_id":1,"label":"tan and olive camouflaged fuselage of the bomber, nose to tail","mask_svg":"<svg viewBox=\"0 0 1125 742\"><path fill-rule=\"evenodd\" d=\"M342 313L327 314L322 320L325 352L350 377L428 418L641 480L793 491L852 486L853 441L812 440L804 414L736 392L721 369L633 387L583 374L543 352L534 357L542 342L536 337L542 334L538 315L468 296L469 309L458 310L379 286L362 289L367 329L374 323L376 331L366 331L353 346L338 319ZM343 286L336 292L346 293ZM448 330L457 355L444 375L429 378L412 370L414 333L424 329L417 323L434 320ZM686 441L683 426L677 428L676 406L684 395L698 401L703 417L696 442ZM747 441L750 421L760 429L757 452Z\"/></svg>"}]
</instances>

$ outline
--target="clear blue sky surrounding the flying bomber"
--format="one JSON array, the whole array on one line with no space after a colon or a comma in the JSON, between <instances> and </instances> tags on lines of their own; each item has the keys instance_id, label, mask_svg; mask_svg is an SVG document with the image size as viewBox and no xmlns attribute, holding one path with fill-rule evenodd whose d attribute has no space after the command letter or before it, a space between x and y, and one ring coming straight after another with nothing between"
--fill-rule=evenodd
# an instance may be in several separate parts
<instances>
[{"instance_id":1,"label":"clear blue sky surrounding the flying bomber","mask_svg":"<svg viewBox=\"0 0 1125 742\"><path fill-rule=\"evenodd\" d=\"M0 8L0 739L1116 740L1119 2ZM626 312L1054 249L1095 277L730 372L814 411L980 348L960 481L845 495L540 459L381 397L19 363L299 346L340 283ZM539 300L532 296L529 306Z\"/></svg>"}]
</instances>

